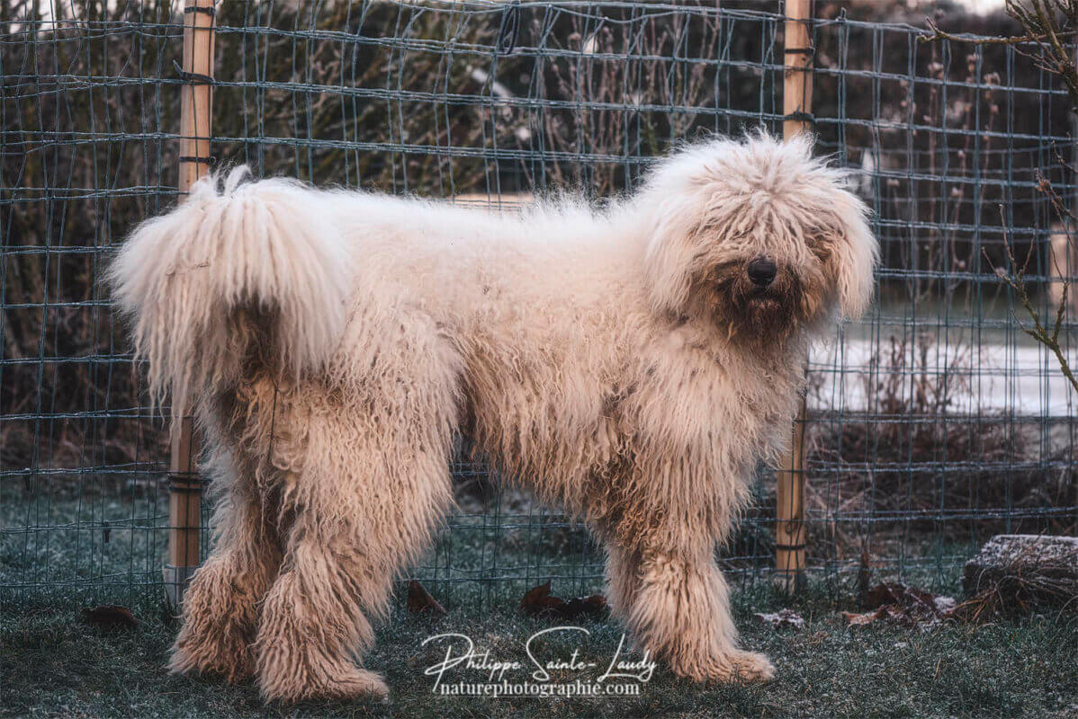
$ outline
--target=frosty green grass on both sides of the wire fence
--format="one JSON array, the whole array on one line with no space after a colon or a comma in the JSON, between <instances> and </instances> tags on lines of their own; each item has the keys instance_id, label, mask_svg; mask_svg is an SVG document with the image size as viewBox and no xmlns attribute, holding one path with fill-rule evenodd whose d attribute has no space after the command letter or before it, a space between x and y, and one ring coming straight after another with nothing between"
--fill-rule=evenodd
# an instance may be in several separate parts
<instances>
[{"instance_id":1,"label":"frosty green grass on both sides of the wire fence","mask_svg":"<svg viewBox=\"0 0 1078 719\"><path fill-rule=\"evenodd\" d=\"M472 637L479 651L527 666L523 643L552 622L524 617L517 604L529 587L554 576L554 593L570 597L600 587L586 536L576 527L547 527L517 519L465 517L418 572L446 606L439 620L409 615L400 602L378 630L367 664L386 675L388 705L367 702L266 707L252 686L169 676L164 665L176 632L157 605L164 559L163 499L138 502L102 493L28 502L0 491L0 716L12 717L1078 717L1078 618L1032 616L986 625L944 625L923 632L898 626L849 629L848 578L825 577L790 606L808 620L800 631L775 631L756 619L787 602L763 579L735 592L745 644L778 668L765 687L703 687L662 665L636 697L448 697L432 693L424 669L444 649L421 646L438 633ZM105 522L108 522L106 525ZM515 528L513 528L515 526ZM23 530L19 527L29 527ZM106 541L105 527L109 528ZM968 555L968 547L927 548L903 579L954 594L957 568L932 556ZM913 558L911 558L912 560ZM448 569L452 568L452 572ZM502 577L495 582L474 577ZM464 581L460 581L464 580ZM740 581L740 579L735 580ZM83 623L79 607L129 605L141 620L133 631ZM622 629L589 621L583 642L552 636L549 655L605 666ZM523 680L527 671L510 673ZM597 671L583 673L594 677ZM571 681L572 673L555 673ZM452 669L447 681L479 681Z\"/></svg>"}]
</instances>

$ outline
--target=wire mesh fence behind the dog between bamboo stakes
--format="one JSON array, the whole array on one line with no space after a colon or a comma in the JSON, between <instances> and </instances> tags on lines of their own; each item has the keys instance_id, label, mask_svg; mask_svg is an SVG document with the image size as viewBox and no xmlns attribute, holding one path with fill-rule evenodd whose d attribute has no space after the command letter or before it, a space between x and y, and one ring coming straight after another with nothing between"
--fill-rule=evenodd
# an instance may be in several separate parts
<instances>
[{"instance_id":1,"label":"wire mesh fence behind the dog between bamboo stakes","mask_svg":"<svg viewBox=\"0 0 1078 719\"><path fill-rule=\"evenodd\" d=\"M167 432L99 280L178 199L182 8L45 4L0 0L0 601L154 600ZM808 364L808 560L835 581L944 576L992 533L1078 521L1076 397L996 271L1028 257L1044 312L1075 272L1044 192L1076 191L1066 91L1012 46L865 12L820 3L812 26L818 151L854 168L883 248L872 312ZM777 131L783 22L730 2L222 2L215 161L492 212L599 199L685 139ZM460 445L459 509L414 575L451 600L597 589L584 528ZM742 581L773 566L773 471L755 497L722 550Z\"/></svg>"}]
</instances>

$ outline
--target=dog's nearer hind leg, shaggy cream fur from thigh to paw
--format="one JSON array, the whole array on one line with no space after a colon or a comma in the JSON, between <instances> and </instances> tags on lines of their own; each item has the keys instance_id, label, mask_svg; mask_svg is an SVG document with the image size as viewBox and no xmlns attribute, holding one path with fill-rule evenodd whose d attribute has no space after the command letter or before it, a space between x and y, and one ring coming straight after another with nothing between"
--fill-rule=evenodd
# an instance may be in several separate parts
<instances>
[{"instance_id":1,"label":"dog's nearer hind leg, shaggy cream fur from thigh to paw","mask_svg":"<svg viewBox=\"0 0 1078 719\"><path fill-rule=\"evenodd\" d=\"M405 384L309 399L304 466L285 503L294 517L257 643L266 699L384 697L357 664L388 611L393 580L427 547L448 508L452 392L429 373ZM437 395L437 396L434 396Z\"/></svg>"}]
</instances>

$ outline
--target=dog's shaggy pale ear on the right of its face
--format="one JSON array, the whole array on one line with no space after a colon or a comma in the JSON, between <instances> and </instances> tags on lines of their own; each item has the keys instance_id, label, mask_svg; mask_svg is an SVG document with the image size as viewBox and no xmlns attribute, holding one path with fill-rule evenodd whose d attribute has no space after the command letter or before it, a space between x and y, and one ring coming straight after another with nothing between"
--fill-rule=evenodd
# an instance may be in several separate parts
<instances>
[{"instance_id":1,"label":"dog's shaggy pale ear on the right of its face","mask_svg":"<svg viewBox=\"0 0 1078 719\"><path fill-rule=\"evenodd\" d=\"M868 223L868 208L846 189L835 193L833 217L826 223L819 248L838 294L844 318L857 319L872 299L872 270L880 244Z\"/></svg>"}]
</instances>

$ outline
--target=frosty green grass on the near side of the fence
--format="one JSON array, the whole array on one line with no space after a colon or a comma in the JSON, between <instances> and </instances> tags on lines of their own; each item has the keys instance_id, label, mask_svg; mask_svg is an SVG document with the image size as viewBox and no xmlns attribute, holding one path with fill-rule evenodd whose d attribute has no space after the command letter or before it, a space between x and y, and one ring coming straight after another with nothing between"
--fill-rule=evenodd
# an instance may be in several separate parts
<instances>
[{"instance_id":1,"label":"frosty green grass on the near side of the fence","mask_svg":"<svg viewBox=\"0 0 1078 719\"><path fill-rule=\"evenodd\" d=\"M556 589L556 586L555 586ZM0 715L12 717L1075 717L1078 716L1078 619L1035 615L982 625L931 631L899 626L849 629L846 602L820 590L792 603L807 620L800 631L776 631L751 612L786 603L764 589L735 598L745 644L766 652L778 668L768 686L697 686L660 665L637 697L446 697L431 692L424 668L443 649L421 646L442 632L471 636L493 658L526 662L522 643L553 625L507 604L493 611L457 605L438 620L395 609L378 631L369 666L386 674L387 705L368 702L265 706L252 686L169 676L165 669L175 626L152 605L136 608L130 631L84 624L74 609L5 614L0 619ZM550 655L576 646L583 661L605 665L621 626L583 622L592 635L577 643L553 638ZM631 654L633 657L635 654ZM456 672L456 674L453 674ZM596 671L591 671L594 676ZM510 673L514 680L527 672ZM478 672L451 669L455 680ZM571 673L554 673L571 680Z\"/></svg>"}]
</instances>

